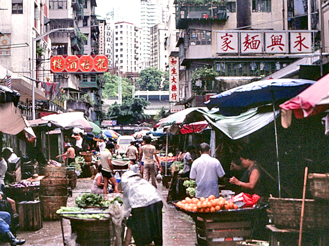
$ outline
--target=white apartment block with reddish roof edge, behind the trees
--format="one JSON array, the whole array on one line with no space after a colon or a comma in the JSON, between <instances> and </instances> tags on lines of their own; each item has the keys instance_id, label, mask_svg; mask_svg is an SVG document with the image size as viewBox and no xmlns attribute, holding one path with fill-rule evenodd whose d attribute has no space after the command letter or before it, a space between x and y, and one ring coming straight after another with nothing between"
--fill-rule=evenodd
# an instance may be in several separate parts
<instances>
[{"instance_id":1,"label":"white apartment block with reddish roof edge, behind the trees","mask_svg":"<svg viewBox=\"0 0 329 246\"><path fill-rule=\"evenodd\" d=\"M121 72L137 72L141 54L141 29L129 22L114 24L114 65Z\"/></svg>"}]
</instances>

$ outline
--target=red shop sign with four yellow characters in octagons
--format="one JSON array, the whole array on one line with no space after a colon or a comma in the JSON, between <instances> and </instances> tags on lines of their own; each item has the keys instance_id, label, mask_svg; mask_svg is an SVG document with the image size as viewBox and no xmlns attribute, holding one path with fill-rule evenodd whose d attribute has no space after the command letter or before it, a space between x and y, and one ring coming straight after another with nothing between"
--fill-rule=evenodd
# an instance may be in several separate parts
<instances>
[{"instance_id":1,"label":"red shop sign with four yellow characters in octagons","mask_svg":"<svg viewBox=\"0 0 329 246\"><path fill-rule=\"evenodd\" d=\"M105 55L52 56L50 64L52 73L104 73L108 70Z\"/></svg>"}]
</instances>

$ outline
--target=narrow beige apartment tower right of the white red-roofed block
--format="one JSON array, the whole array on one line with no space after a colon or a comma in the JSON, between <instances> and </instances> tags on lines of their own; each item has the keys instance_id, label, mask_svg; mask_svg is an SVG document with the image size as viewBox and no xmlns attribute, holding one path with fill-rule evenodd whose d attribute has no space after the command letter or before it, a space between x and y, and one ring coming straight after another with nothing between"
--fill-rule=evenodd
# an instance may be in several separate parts
<instances>
[{"instance_id":1,"label":"narrow beige apartment tower right of the white red-roofed block","mask_svg":"<svg viewBox=\"0 0 329 246\"><path fill-rule=\"evenodd\" d=\"M168 65L166 39L168 35L167 23L159 23L151 27L151 58L150 66L165 71Z\"/></svg>"}]
</instances>

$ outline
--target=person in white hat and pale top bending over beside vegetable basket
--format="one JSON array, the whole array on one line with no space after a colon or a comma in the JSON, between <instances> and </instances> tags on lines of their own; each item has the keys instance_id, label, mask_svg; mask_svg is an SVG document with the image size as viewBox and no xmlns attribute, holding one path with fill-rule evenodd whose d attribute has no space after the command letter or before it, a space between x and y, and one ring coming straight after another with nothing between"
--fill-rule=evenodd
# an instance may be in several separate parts
<instances>
[{"instance_id":1,"label":"person in white hat and pale top bending over beside vegetable basket","mask_svg":"<svg viewBox=\"0 0 329 246\"><path fill-rule=\"evenodd\" d=\"M127 171L122 174L119 188L123 190L123 208L127 221L127 233L123 246L128 246L131 236L136 246L154 242L162 246L162 197L158 190L141 178L141 174Z\"/></svg>"}]
</instances>

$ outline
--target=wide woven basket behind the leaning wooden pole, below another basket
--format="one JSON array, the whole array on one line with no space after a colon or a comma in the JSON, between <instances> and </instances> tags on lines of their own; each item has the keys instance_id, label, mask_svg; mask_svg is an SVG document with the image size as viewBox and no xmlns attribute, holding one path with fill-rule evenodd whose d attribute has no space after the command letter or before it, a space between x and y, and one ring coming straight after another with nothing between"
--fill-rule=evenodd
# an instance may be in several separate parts
<instances>
[{"instance_id":1,"label":"wide woven basket behind the leaning wooden pole, below another basket","mask_svg":"<svg viewBox=\"0 0 329 246\"><path fill-rule=\"evenodd\" d=\"M269 198L273 224L278 228L299 229L302 199ZM329 228L329 203L305 199L303 228Z\"/></svg>"}]
</instances>

